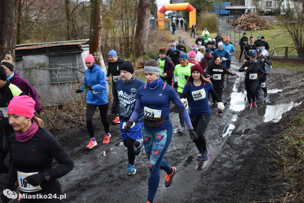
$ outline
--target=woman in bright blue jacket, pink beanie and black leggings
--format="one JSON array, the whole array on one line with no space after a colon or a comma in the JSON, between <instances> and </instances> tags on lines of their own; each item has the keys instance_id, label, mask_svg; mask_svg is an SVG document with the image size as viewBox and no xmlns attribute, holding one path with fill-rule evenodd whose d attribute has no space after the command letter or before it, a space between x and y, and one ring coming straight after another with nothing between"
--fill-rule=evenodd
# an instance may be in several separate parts
<instances>
[{"instance_id":1,"label":"woman in bright blue jacket, pink beanie and black leggings","mask_svg":"<svg viewBox=\"0 0 304 203\"><path fill-rule=\"evenodd\" d=\"M92 54L89 54L85 57L85 65L88 69L85 70L85 79L81 89L76 90L76 93L79 93L88 90L86 100L87 100L87 128L90 136L90 142L86 146L89 149L92 149L97 145L94 135L94 126L93 126L93 115L98 106L101 122L105 129L105 138L103 144L108 144L111 137L109 128L110 123L107 119L108 112L108 98L107 98L107 84L105 80L105 73L102 71L101 67L96 65L94 57Z\"/></svg>"}]
</instances>

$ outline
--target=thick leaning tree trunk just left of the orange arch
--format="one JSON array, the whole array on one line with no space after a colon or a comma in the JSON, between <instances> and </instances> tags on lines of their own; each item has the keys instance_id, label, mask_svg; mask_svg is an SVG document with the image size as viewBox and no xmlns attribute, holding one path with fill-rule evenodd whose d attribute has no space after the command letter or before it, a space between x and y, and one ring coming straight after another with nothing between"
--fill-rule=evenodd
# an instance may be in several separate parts
<instances>
[{"instance_id":1,"label":"thick leaning tree trunk just left of the orange arch","mask_svg":"<svg viewBox=\"0 0 304 203\"><path fill-rule=\"evenodd\" d=\"M150 26L150 0L139 0L138 15L135 31L134 52L135 56L145 53L145 46L148 41Z\"/></svg>"}]
</instances>

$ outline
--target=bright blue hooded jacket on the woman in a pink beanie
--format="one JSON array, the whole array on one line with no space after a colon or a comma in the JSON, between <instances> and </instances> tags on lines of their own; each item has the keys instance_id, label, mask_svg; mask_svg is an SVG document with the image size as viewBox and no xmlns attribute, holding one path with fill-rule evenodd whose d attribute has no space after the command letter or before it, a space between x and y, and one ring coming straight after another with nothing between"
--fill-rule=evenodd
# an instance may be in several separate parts
<instances>
[{"instance_id":1,"label":"bright blue hooded jacket on the woman in a pink beanie","mask_svg":"<svg viewBox=\"0 0 304 203\"><path fill-rule=\"evenodd\" d=\"M85 91L83 89L84 84L92 86L93 89L93 91L88 90L87 92L87 103L92 105L103 105L108 103L105 73L100 66L95 65L92 71L89 69L85 70L85 79L83 80L81 91Z\"/></svg>"}]
</instances>

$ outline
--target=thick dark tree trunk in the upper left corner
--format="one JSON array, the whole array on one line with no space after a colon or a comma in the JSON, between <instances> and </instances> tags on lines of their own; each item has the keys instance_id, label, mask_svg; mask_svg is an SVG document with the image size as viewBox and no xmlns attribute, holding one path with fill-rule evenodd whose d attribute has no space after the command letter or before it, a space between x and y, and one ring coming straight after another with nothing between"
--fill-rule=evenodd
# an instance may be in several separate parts
<instances>
[{"instance_id":1,"label":"thick dark tree trunk in the upper left corner","mask_svg":"<svg viewBox=\"0 0 304 203\"><path fill-rule=\"evenodd\" d=\"M19 0L5 0L0 2L0 59L5 54L12 54L15 59L15 45L18 23ZM5 28L5 29L4 29Z\"/></svg>"}]
</instances>

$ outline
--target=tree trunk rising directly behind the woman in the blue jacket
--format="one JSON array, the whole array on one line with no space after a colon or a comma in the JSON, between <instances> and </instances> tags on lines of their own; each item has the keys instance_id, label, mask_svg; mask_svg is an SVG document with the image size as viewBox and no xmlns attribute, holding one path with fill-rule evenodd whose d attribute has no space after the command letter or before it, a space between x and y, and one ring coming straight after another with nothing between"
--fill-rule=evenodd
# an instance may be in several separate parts
<instances>
[{"instance_id":1,"label":"tree trunk rising directly behind the woman in the blue jacket","mask_svg":"<svg viewBox=\"0 0 304 203\"><path fill-rule=\"evenodd\" d=\"M91 0L90 53L97 65L101 66L102 0Z\"/></svg>"}]
</instances>

